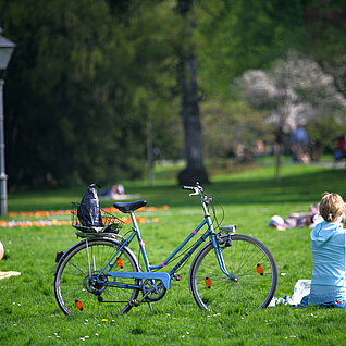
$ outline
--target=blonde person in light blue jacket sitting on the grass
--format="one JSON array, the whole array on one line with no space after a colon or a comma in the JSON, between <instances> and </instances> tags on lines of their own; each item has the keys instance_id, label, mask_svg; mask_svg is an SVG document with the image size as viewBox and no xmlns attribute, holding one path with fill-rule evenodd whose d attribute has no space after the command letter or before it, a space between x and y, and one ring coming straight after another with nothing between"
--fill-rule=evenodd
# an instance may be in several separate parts
<instances>
[{"instance_id":1,"label":"blonde person in light blue jacket sitting on the grass","mask_svg":"<svg viewBox=\"0 0 346 346\"><path fill-rule=\"evenodd\" d=\"M300 306L346 308L346 258L342 220L345 202L337 194L324 193L319 205L324 221L311 231L312 275L310 294Z\"/></svg>"}]
</instances>

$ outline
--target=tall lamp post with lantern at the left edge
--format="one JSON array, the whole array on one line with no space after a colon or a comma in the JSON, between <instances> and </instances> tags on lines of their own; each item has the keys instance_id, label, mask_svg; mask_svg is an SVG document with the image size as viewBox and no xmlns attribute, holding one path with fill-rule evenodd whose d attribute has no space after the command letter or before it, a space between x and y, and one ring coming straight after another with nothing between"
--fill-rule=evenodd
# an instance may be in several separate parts
<instances>
[{"instance_id":1,"label":"tall lamp post with lantern at the left edge","mask_svg":"<svg viewBox=\"0 0 346 346\"><path fill-rule=\"evenodd\" d=\"M15 44L2 36L0 27L0 71L7 70L10 62ZM3 131L3 84L4 79L0 75L0 215L8 213L8 176L4 173L4 131Z\"/></svg>"}]
</instances>

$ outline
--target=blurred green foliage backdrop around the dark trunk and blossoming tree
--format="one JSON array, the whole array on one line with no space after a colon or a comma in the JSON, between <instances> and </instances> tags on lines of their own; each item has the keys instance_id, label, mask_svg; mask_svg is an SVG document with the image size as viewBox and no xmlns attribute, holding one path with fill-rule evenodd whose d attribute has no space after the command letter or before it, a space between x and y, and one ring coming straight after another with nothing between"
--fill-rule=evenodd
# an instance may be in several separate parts
<instances>
[{"instance_id":1,"label":"blurred green foliage backdrop around the dark trunk and blossoming tree","mask_svg":"<svg viewBox=\"0 0 346 346\"><path fill-rule=\"evenodd\" d=\"M270 70L293 49L345 96L344 1L191 3L188 45L198 61L207 157L251 137L272 141L269 114L238 103L234 78ZM11 189L139 177L149 139L156 159L184 158L176 72L186 42L177 1L0 0L0 25L17 44L4 87ZM335 122L313 118L313 139L332 147L335 126L328 138L324 127Z\"/></svg>"}]
</instances>

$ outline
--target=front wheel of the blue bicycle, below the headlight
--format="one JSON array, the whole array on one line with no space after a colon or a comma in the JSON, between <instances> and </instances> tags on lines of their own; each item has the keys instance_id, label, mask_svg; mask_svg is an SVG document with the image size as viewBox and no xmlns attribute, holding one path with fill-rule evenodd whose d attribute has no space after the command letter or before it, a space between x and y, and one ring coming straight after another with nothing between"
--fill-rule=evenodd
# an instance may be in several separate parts
<instances>
[{"instance_id":1,"label":"front wheel of the blue bicycle, below the headlight","mask_svg":"<svg viewBox=\"0 0 346 346\"><path fill-rule=\"evenodd\" d=\"M214 247L208 243L196 256L189 274L197 305L217 313L265 308L277 286L277 269L269 249L252 237L235 234L231 246L220 245L220 252L236 281L221 271Z\"/></svg>"}]
</instances>

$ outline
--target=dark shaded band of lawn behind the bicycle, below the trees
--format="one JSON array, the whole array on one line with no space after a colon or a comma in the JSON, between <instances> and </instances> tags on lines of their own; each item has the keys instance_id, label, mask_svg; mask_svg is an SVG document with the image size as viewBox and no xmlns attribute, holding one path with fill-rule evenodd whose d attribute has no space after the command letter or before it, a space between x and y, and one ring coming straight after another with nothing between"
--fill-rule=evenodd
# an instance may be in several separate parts
<instances>
[{"instance_id":1,"label":"dark shaded band of lawn behind the bicycle, below the trees","mask_svg":"<svg viewBox=\"0 0 346 346\"><path fill-rule=\"evenodd\" d=\"M307 171L300 166L287 170L281 182L275 182L272 171L267 169L212 177L212 184L205 186L205 190L222 205L317 203L325 190L346 197L345 183L346 170L316 168ZM182 190L174 181L157 182L152 187L145 182L128 182L125 187L126 193L138 194L137 199L146 199L149 207L200 207L199 198L189 198L188 191ZM71 201L79 201L86 188L15 194L10 196L9 211L70 209ZM101 200L102 207L112 203Z\"/></svg>"}]
</instances>

